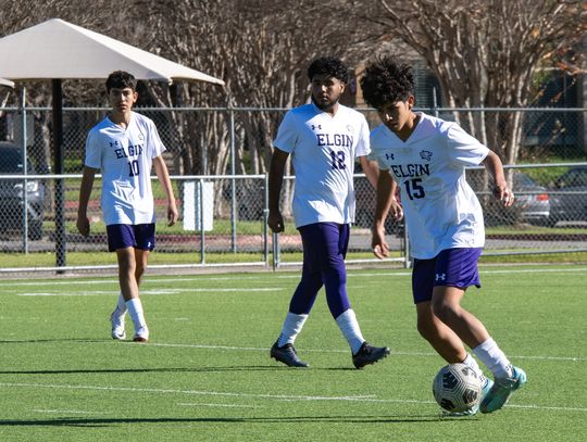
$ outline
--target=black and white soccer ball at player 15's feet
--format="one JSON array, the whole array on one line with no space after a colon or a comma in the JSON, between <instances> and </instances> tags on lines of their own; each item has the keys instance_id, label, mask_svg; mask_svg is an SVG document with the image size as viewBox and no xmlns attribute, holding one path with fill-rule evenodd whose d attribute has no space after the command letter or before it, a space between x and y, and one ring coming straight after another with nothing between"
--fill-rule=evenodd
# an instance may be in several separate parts
<instances>
[{"instance_id":1,"label":"black and white soccer ball at player 15's feet","mask_svg":"<svg viewBox=\"0 0 587 442\"><path fill-rule=\"evenodd\" d=\"M449 364L434 378L434 399L450 413L466 413L479 405L482 397L479 376L464 364Z\"/></svg>"}]
</instances>

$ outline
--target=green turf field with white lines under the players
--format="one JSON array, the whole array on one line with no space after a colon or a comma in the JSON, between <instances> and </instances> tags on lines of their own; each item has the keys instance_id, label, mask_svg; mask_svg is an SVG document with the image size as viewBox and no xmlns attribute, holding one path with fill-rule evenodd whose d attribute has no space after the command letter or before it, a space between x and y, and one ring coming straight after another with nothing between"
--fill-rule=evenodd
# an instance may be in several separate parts
<instances>
[{"instance_id":1,"label":"green turf field with white lines under the players","mask_svg":"<svg viewBox=\"0 0 587 442\"><path fill-rule=\"evenodd\" d=\"M465 306L523 367L502 411L444 418L442 361L417 334L407 270L351 270L355 370L319 295L291 369L268 358L298 273L148 276L148 344L110 339L115 278L0 286L0 441L578 441L587 434L585 266L482 267ZM132 336L130 324L127 333Z\"/></svg>"}]
</instances>

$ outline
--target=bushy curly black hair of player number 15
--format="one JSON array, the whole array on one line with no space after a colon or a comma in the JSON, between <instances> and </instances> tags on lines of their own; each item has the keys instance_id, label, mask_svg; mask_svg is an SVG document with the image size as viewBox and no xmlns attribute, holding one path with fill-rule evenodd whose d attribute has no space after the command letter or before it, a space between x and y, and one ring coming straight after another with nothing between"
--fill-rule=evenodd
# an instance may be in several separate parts
<instances>
[{"instance_id":1,"label":"bushy curly black hair of player number 15","mask_svg":"<svg viewBox=\"0 0 587 442\"><path fill-rule=\"evenodd\" d=\"M375 109L405 101L414 94L412 66L389 55L379 56L366 65L361 89L365 102Z\"/></svg>"}]
</instances>

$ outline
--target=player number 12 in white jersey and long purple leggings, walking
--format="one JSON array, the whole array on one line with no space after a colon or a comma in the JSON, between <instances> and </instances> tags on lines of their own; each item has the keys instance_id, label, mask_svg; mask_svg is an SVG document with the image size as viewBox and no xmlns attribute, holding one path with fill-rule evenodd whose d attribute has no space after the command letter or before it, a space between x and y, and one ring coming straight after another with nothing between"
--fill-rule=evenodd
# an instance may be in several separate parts
<instances>
[{"instance_id":1,"label":"player number 12 in white jersey and long purple leggings, walking","mask_svg":"<svg viewBox=\"0 0 587 442\"><path fill-rule=\"evenodd\" d=\"M366 159L370 148L365 117L338 102L348 81L347 67L338 59L321 58L310 64L308 77L312 102L285 115L270 167L267 223L274 232L280 232L284 218L279 194L285 164L291 155L296 172L292 210L303 247L302 277L271 357L290 367L308 366L299 359L294 342L324 286L330 314L351 348L353 365L362 368L389 353L389 349L372 346L363 339L347 296L345 268L354 217L355 159L373 185L377 167Z\"/></svg>"}]
</instances>

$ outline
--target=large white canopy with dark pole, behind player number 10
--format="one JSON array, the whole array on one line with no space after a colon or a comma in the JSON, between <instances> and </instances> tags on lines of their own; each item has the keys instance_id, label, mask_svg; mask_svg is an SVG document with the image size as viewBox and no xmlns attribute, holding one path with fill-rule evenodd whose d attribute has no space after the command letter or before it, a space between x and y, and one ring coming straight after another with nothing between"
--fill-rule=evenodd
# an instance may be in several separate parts
<instances>
[{"instance_id":1,"label":"large white canopy with dark pole, behind player number 10","mask_svg":"<svg viewBox=\"0 0 587 442\"><path fill-rule=\"evenodd\" d=\"M0 78L52 80L55 174L63 174L62 79L107 78L113 71L122 70L137 79L167 83L182 79L224 85L222 79L60 18L0 38ZM65 266L62 179L55 180L55 230L57 264Z\"/></svg>"}]
</instances>

